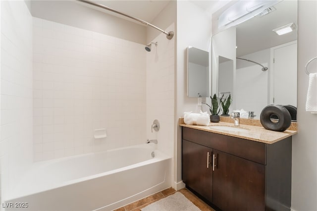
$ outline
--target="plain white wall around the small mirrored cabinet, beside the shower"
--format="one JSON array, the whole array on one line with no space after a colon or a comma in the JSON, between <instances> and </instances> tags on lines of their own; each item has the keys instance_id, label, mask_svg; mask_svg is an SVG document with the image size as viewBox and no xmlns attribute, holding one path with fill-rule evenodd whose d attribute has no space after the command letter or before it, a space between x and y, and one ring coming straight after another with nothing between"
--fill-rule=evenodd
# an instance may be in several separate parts
<instances>
[{"instance_id":1,"label":"plain white wall around the small mirrored cabinet, beside the shower","mask_svg":"<svg viewBox=\"0 0 317 211\"><path fill-rule=\"evenodd\" d=\"M184 111L199 111L197 98L189 98L186 95L186 48L192 46L207 52L211 47L211 17L201 8L188 0L177 1L177 62L176 62L176 116L183 116ZM206 98L205 98L206 99ZM203 99L203 101L206 101ZM209 110L205 108L205 111ZM181 184L181 127L176 125L177 141L175 147L175 182ZM176 187L176 186L175 186ZM181 187L181 185L180 185Z\"/></svg>"}]
</instances>

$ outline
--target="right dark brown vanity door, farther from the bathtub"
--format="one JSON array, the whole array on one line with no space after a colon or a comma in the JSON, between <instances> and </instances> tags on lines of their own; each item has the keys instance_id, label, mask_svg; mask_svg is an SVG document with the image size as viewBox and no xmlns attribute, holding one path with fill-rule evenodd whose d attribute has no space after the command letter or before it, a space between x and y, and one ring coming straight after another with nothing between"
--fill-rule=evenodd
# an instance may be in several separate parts
<instances>
[{"instance_id":1,"label":"right dark brown vanity door, farther from the bathtub","mask_svg":"<svg viewBox=\"0 0 317 211\"><path fill-rule=\"evenodd\" d=\"M212 203L222 211L264 211L264 165L213 150Z\"/></svg>"}]
</instances>

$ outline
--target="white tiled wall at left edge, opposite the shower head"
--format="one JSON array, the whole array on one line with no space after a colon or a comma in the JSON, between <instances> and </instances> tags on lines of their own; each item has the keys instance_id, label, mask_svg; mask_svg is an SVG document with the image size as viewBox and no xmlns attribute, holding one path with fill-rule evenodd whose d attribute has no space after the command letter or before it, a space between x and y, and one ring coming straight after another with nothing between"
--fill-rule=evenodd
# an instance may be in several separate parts
<instances>
[{"instance_id":1,"label":"white tiled wall at left edge, opposite the shower head","mask_svg":"<svg viewBox=\"0 0 317 211\"><path fill-rule=\"evenodd\" d=\"M32 163L32 16L24 1L0 4L0 188L4 201Z\"/></svg>"}]
</instances>

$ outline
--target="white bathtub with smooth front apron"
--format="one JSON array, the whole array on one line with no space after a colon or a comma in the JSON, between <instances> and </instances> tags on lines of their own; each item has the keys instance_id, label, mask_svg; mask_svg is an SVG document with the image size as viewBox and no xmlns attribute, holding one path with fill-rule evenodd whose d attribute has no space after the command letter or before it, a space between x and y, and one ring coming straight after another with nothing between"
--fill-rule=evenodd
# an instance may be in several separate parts
<instances>
[{"instance_id":1,"label":"white bathtub with smooth front apron","mask_svg":"<svg viewBox=\"0 0 317 211\"><path fill-rule=\"evenodd\" d=\"M171 158L142 144L36 162L2 208L110 211L170 186Z\"/></svg>"}]
</instances>

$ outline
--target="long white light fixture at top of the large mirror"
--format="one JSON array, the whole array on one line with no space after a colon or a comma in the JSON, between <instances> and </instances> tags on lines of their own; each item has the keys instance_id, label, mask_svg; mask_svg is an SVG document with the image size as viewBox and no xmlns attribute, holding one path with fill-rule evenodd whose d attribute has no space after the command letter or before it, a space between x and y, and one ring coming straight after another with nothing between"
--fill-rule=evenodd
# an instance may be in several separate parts
<instances>
[{"instance_id":1,"label":"long white light fixture at top of the large mirror","mask_svg":"<svg viewBox=\"0 0 317 211\"><path fill-rule=\"evenodd\" d=\"M235 26L249 20L262 12L265 13L265 10L280 1L239 0L221 13L218 18L218 28Z\"/></svg>"}]
</instances>

